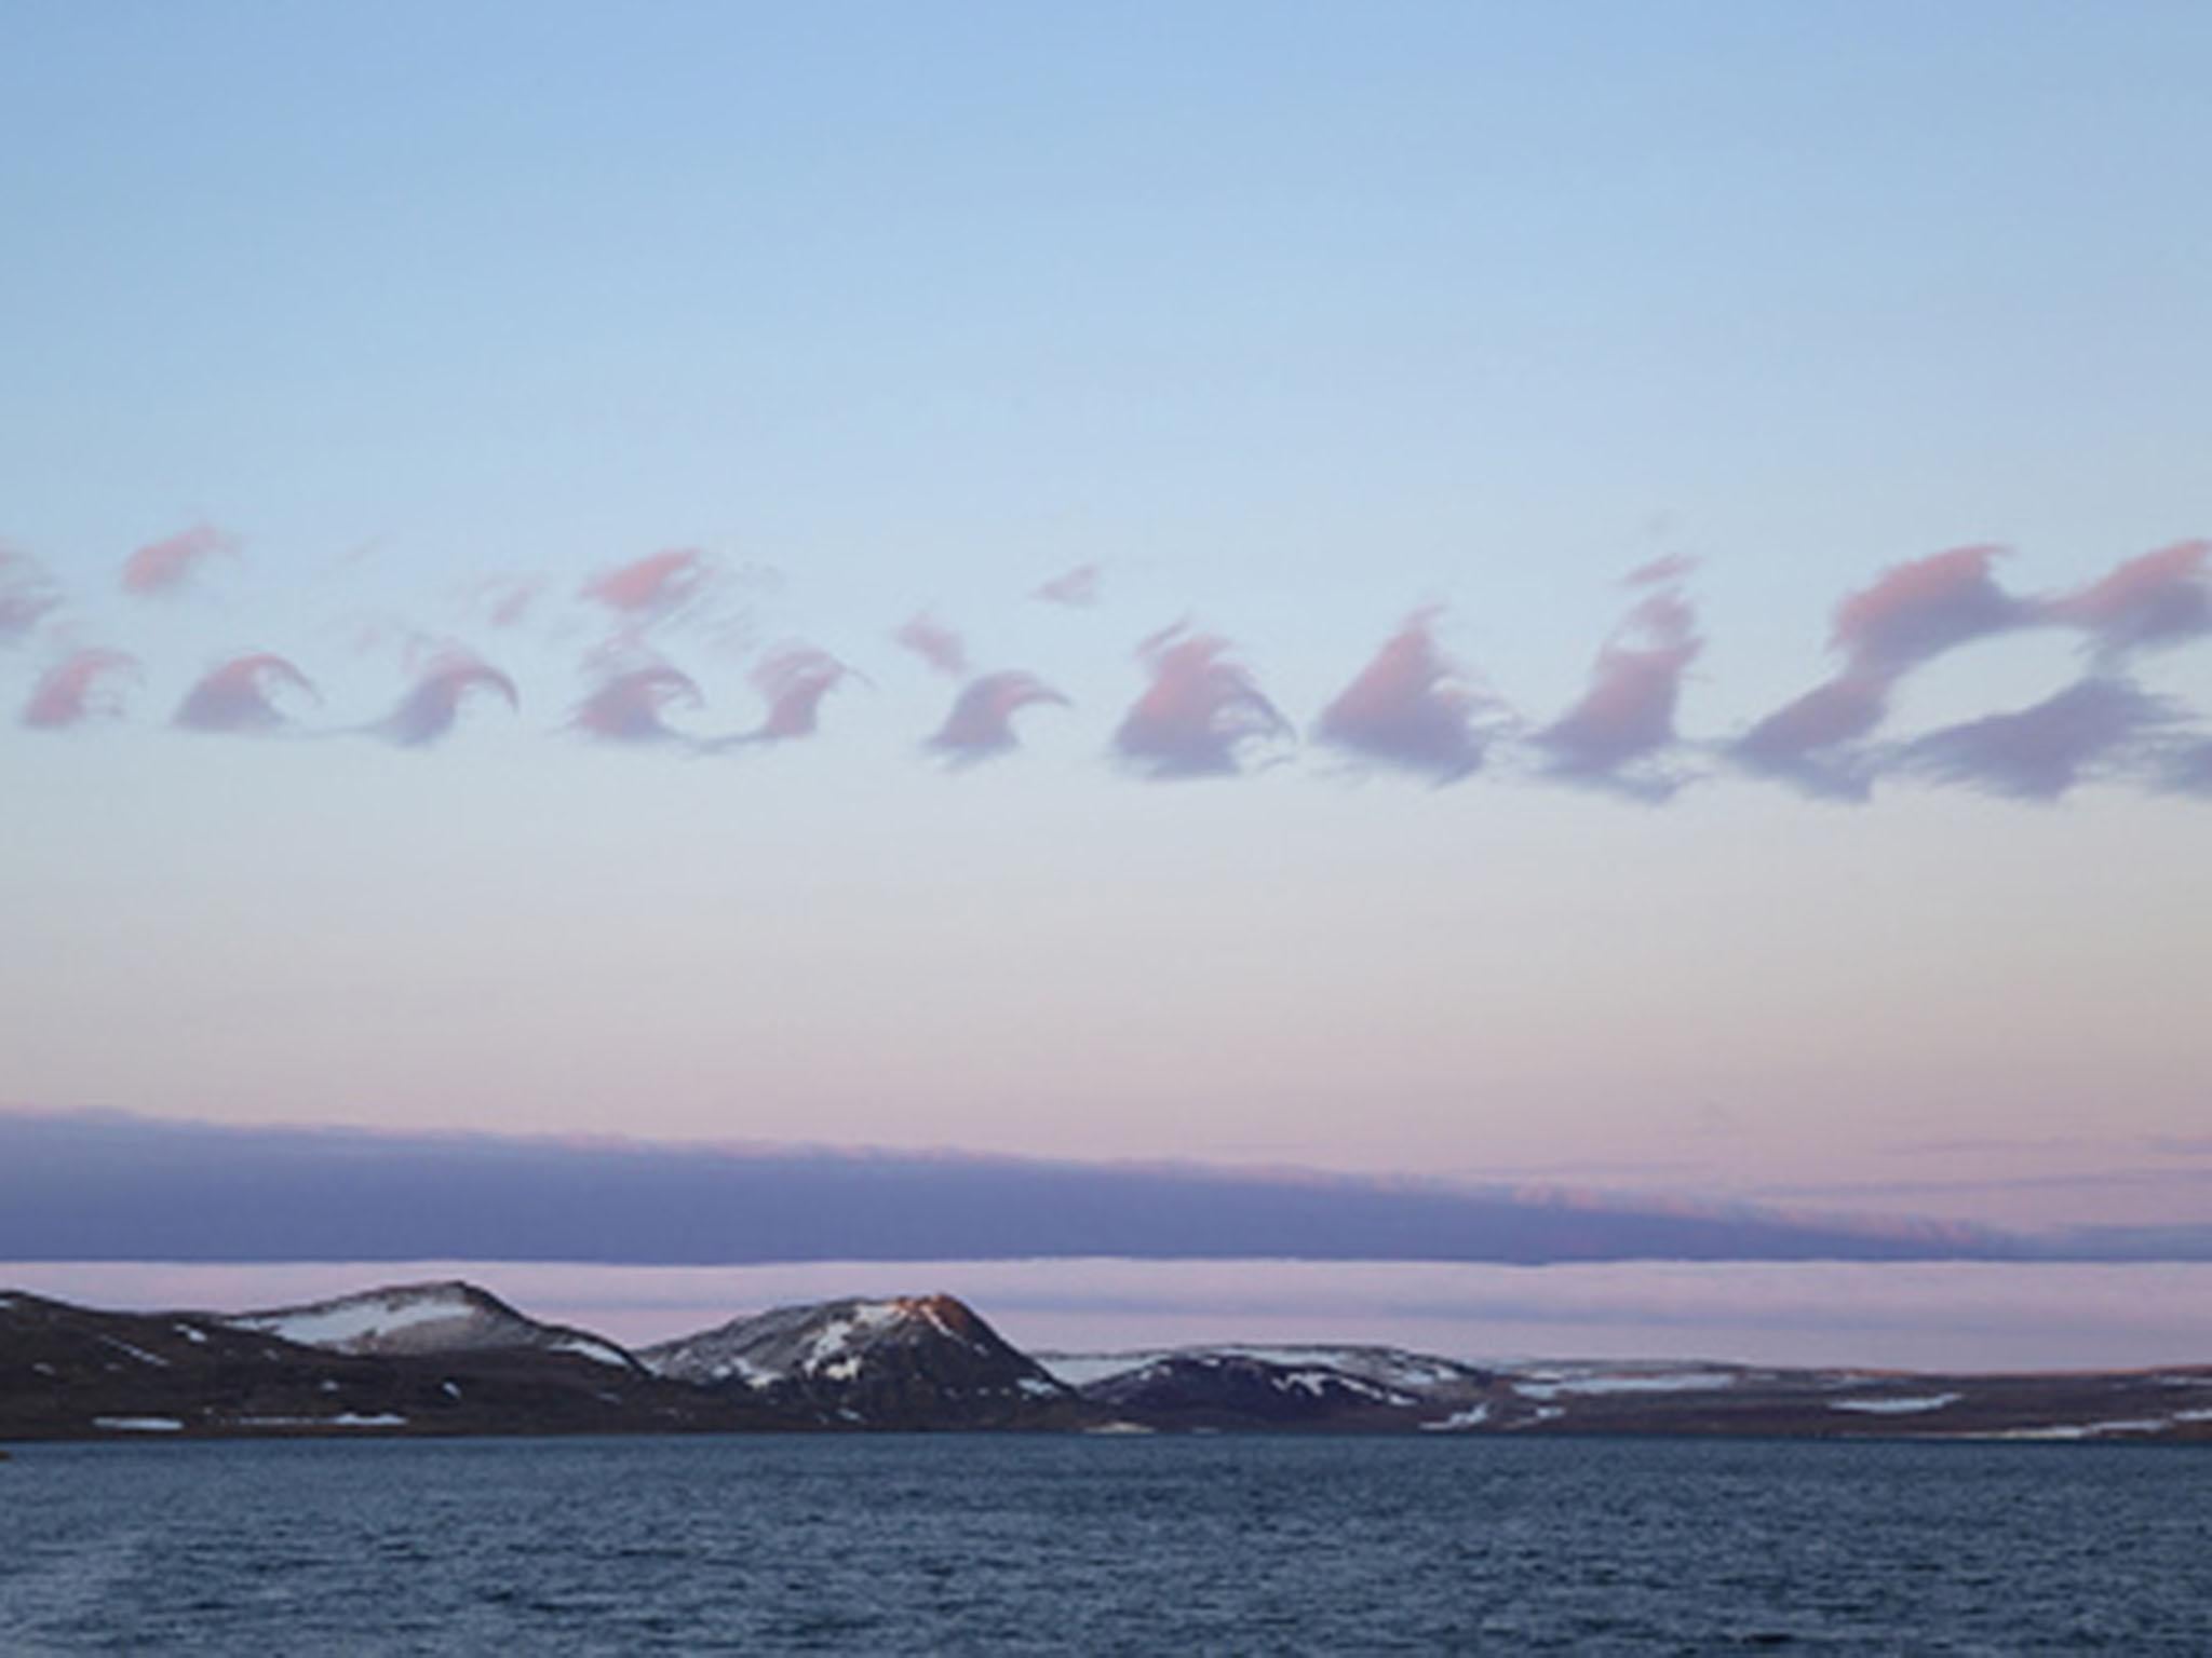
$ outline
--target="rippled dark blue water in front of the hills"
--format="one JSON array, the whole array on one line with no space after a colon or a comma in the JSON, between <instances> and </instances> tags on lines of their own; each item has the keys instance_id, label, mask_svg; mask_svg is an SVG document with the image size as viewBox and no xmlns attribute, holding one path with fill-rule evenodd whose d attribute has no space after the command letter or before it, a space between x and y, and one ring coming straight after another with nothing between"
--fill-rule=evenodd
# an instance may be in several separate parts
<instances>
[{"instance_id":1,"label":"rippled dark blue water in front of the hills","mask_svg":"<svg viewBox=\"0 0 2212 1658\"><path fill-rule=\"evenodd\" d=\"M2212 1651L2212 1452L27 1446L0 1651Z\"/></svg>"}]
</instances>

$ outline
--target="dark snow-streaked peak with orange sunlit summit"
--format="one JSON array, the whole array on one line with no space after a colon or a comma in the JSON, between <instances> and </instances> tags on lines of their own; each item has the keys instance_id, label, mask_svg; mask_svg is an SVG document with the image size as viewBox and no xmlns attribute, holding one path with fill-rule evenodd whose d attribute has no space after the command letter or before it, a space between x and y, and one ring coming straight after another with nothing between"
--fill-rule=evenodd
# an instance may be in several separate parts
<instances>
[{"instance_id":1,"label":"dark snow-streaked peak with orange sunlit summit","mask_svg":"<svg viewBox=\"0 0 2212 1658\"><path fill-rule=\"evenodd\" d=\"M823 1424L1068 1428L1075 1388L951 1295L779 1307L648 1346L661 1377Z\"/></svg>"}]
</instances>

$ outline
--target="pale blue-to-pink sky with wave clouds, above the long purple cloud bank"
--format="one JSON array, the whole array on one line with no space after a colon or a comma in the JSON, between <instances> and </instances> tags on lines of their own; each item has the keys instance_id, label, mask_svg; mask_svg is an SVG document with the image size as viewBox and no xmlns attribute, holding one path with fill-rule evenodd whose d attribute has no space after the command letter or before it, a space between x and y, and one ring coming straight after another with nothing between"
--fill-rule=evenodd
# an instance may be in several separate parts
<instances>
[{"instance_id":1,"label":"pale blue-to-pink sky with wave clouds, above the long purple cloud bank","mask_svg":"<svg viewBox=\"0 0 2212 1658\"><path fill-rule=\"evenodd\" d=\"M0 1105L2212 1225L2208 66L9 7Z\"/></svg>"}]
</instances>

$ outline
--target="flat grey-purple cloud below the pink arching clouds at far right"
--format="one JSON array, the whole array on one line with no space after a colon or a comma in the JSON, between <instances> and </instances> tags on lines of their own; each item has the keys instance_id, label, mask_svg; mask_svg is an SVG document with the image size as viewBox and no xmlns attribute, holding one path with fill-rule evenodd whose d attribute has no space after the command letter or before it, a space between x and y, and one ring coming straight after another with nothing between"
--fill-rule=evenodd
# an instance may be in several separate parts
<instances>
[{"instance_id":1,"label":"flat grey-purple cloud below the pink arching clouds at far right","mask_svg":"<svg viewBox=\"0 0 2212 1658\"><path fill-rule=\"evenodd\" d=\"M2093 676L2033 707L1929 732L1907 745L1902 765L2015 800L2057 800L2170 718L2128 681Z\"/></svg>"}]
</instances>

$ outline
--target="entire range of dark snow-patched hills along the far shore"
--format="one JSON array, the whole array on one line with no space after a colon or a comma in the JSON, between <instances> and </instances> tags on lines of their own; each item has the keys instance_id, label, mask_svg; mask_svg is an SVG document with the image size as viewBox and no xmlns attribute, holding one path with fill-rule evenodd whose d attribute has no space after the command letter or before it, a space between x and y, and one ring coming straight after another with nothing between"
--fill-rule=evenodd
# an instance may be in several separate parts
<instances>
[{"instance_id":1,"label":"entire range of dark snow-patched hills along the far shore","mask_svg":"<svg viewBox=\"0 0 2212 1658\"><path fill-rule=\"evenodd\" d=\"M1250 1344L1040 1362L951 1295L781 1307L633 1355L458 1282L241 1315L0 1291L0 1441L812 1428L2212 1441L2212 1366L1475 1366Z\"/></svg>"}]
</instances>

